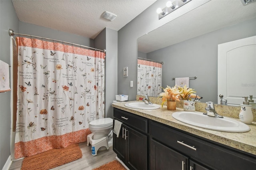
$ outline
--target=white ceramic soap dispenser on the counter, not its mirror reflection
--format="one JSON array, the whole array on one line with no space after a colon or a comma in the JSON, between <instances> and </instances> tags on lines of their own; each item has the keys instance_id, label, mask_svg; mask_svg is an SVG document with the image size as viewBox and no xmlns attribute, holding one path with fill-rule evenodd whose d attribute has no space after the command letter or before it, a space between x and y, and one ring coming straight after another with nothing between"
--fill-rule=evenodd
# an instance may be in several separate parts
<instances>
[{"instance_id":1,"label":"white ceramic soap dispenser on the counter, not its mirror reflection","mask_svg":"<svg viewBox=\"0 0 256 170\"><path fill-rule=\"evenodd\" d=\"M242 123L251 124L253 120L252 105L249 105L248 97L243 97L244 102L240 105L239 119Z\"/></svg>"}]
</instances>

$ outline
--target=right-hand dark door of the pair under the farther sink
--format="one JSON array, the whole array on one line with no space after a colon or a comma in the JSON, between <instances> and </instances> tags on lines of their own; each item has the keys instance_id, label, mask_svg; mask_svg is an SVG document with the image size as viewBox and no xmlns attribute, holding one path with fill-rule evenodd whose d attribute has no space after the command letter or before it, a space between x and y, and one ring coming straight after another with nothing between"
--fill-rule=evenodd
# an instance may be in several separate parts
<instances>
[{"instance_id":1,"label":"right-hand dark door of the pair under the farther sink","mask_svg":"<svg viewBox=\"0 0 256 170\"><path fill-rule=\"evenodd\" d=\"M147 136L132 128L128 127L127 129L128 167L137 170L147 170Z\"/></svg>"}]
</instances>

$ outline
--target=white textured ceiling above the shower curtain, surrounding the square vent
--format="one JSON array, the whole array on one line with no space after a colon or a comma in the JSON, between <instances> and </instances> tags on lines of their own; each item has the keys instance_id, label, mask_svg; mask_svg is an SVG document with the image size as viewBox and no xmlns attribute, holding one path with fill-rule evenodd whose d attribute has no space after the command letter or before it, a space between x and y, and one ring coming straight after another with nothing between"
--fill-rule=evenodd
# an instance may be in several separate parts
<instances>
[{"instance_id":1,"label":"white textured ceiling above the shower curtain, surrounding the square vent","mask_svg":"<svg viewBox=\"0 0 256 170\"><path fill-rule=\"evenodd\" d=\"M94 39L104 28L120 30L156 0L12 0L21 22ZM116 14L110 22L101 15Z\"/></svg>"}]
</instances>

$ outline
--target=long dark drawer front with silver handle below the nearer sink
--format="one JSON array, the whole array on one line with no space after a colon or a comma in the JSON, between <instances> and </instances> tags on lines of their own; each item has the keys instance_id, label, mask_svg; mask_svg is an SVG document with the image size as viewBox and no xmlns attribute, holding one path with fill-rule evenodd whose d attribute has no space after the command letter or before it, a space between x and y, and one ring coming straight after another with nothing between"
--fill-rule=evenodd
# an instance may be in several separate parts
<instances>
[{"instance_id":1,"label":"long dark drawer front with silver handle below the nearer sink","mask_svg":"<svg viewBox=\"0 0 256 170\"><path fill-rule=\"evenodd\" d=\"M218 170L249 170L256 166L256 159L235 149L214 144L195 136L190 136L174 128L150 121L150 135L155 140L183 153L193 159L204 162Z\"/></svg>"}]
</instances>

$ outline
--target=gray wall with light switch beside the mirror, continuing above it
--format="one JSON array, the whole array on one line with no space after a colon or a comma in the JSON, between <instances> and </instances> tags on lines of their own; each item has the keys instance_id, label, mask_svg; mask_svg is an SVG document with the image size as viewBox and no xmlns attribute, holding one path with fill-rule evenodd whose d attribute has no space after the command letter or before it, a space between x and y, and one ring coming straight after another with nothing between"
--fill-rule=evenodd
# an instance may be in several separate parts
<instances>
[{"instance_id":1,"label":"gray wall with light switch beside the mirror, continuing above it","mask_svg":"<svg viewBox=\"0 0 256 170\"><path fill-rule=\"evenodd\" d=\"M137 39L207 1L191 1L188 8L177 9L172 15L159 20L156 9L164 7L166 2L167 0L156 1L118 31L118 95L129 95L129 101L135 100L137 95ZM128 77L123 77L123 67L128 67ZM133 81L133 87L130 87L130 81Z\"/></svg>"}]
</instances>

